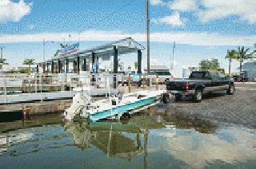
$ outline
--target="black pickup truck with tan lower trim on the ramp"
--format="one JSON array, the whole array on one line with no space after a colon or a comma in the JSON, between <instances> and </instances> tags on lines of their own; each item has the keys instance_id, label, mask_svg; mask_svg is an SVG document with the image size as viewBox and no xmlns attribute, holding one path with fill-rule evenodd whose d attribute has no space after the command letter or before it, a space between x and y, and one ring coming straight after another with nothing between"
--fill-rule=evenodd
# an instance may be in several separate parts
<instances>
[{"instance_id":1,"label":"black pickup truck with tan lower trim on the ramp","mask_svg":"<svg viewBox=\"0 0 256 169\"><path fill-rule=\"evenodd\" d=\"M194 102L200 102L205 93L226 91L228 95L233 95L235 87L234 81L218 72L194 71L188 79L167 79L166 90L175 96L175 100L192 96Z\"/></svg>"}]
</instances>

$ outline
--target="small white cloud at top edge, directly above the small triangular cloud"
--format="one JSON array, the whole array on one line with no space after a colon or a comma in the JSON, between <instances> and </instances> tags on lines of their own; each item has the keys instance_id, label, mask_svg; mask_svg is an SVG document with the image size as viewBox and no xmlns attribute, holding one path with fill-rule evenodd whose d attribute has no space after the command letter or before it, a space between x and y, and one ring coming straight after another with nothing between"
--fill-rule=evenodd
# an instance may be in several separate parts
<instances>
[{"instance_id":1,"label":"small white cloud at top edge, directly above the small triangular cloud","mask_svg":"<svg viewBox=\"0 0 256 169\"><path fill-rule=\"evenodd\" d=\"M198 10L198 0L174 0L174 2L168 2L167 6L171 10L194 11Z\"/></svg>"}]
</instances>

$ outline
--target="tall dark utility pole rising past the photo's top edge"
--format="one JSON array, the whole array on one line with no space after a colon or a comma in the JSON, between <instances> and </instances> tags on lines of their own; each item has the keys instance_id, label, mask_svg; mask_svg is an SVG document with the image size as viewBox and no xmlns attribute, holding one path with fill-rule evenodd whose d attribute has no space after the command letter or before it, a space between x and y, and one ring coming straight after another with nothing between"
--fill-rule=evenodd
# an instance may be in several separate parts
<instances>
[{"instance_id":1,"label":"tall dark utility pole rising past the photo's top edge","mask_svg":"<svg viewBox=\"0 0 256 169\"><path fill-rule=\"evenodd\" d=\"M146 0L146 70L147 75L150 74L150 3ZM148 77L148 85L150 85L150 78Z\"/></svg>"}]
</instances>

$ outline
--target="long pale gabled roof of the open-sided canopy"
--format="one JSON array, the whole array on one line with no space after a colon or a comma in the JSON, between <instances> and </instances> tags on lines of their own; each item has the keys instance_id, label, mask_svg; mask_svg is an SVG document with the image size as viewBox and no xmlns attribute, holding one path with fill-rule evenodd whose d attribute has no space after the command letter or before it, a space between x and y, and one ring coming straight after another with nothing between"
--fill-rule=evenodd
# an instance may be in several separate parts
<instances>
[{"instance_id":1,"label":"long pale gabled roof of the open-sided canopy","mask_svg":"<svg viewBox=\"0 0 256 169\"><path fill-rule=\"evenodd\" d=\"M143 45L139 44L137 41L134 41L133 38L127 37L120 41L114 41L112 43L109 43L106 45L100 45L92 49L80 50L76 53L67 54L63 57L52 58L45 62L59 61L59 60L64 60L66 58L72 60L76 57L82 57L82 58L90 57L92 53L95 53L95 56L99 58L104 58L104 57L109 58L114 55L114 46L117 46L118 48L118 55L127 54L127 53L136 53L138 50L145 49Z\"/></svg>"}]
</instances>

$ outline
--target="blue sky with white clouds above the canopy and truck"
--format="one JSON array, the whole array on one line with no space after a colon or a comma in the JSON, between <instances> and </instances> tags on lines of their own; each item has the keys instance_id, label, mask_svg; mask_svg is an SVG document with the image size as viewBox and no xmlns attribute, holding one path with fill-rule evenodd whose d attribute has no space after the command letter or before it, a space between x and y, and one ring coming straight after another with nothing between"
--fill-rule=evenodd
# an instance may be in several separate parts
<instances>
[{"instance_id":1,"label":"blue sky with white clouds above the canopy and truck","mask_svg":"<svg viewBox=\"0 0 256 169\"><path fill-rule=\"evenodd\" d=\"M22 65L29 57L42 61L42 41L50 59L64 39L80 49L124 37L146 45L146 0L0 0L0 46L10 65ZM70 35L70 36L69 36ZM256 43L255 0L151 0L150 61L170 66L173 42L174 75L217 58L228 69L227 49ZM122 56L125 68L133 66L136 53ZM146 67L146 51L142 53ZM238 68L234 61L232 70Z\"/></svg>"}]
</instances>

